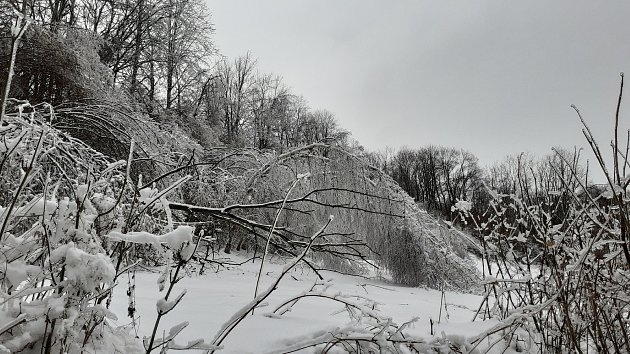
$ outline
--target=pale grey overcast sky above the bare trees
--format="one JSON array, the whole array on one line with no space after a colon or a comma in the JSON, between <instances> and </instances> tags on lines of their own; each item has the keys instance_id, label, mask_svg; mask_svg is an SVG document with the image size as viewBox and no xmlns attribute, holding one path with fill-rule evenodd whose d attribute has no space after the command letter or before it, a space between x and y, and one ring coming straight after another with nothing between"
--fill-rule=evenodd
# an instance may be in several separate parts
<instances>
[{"instance_id":1,"label":"pale grey overcast sky above the bare trees","mask_svg":"<svg viewBox=\"0 0 630 354\"><path fill-rule=\"evenodd\" d=\"M454 146L488 165L586 146L571 104L606 147L630 74L628 1L207 1L222 54L250 50L370 150Z\"/></svg>"}]
</instances>

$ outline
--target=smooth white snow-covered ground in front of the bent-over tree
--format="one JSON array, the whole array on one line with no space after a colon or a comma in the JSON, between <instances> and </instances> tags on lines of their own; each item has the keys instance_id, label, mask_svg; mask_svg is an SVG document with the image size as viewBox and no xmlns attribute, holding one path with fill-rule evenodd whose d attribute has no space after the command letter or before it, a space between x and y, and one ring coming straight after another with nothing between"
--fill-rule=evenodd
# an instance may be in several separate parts
<instances>
[{"instance_id":1,"label":"smooth white snow-covered ground in front of the bent-over tree","mask_svg":"<svg viewBox=\"0 0 630 354\"><path fill-rule=\"evenodd\" d=\"M232 256L232 259L234 257ZM235 260L239 260L237 257ZM265 264L261 289L277 278L283 263L275 261ZM190 325L178 337L178 342L202 338L210 342L217 330L234 312L252 300L256 284L256 274L260 263L251 261L241 266L221 269L219 272L207 270L206 274L191 275L177 284L173 294L187 289L187 294L173 312L166 315L160 324L160 333L168 332L171 326L188 321ZM328 292L368 297L380 303L378 309L395 322L402 324L414 317L419 317L408 332L426 336L430 339L431 324L437 336L442 331L447 334L474 335L489 328L490 322L471 323L474 311L479 306L481 297L471 294L446 292L446 306L440 303L442 293L436 290L394 286L382 280L323 272L324 277L332 279L333 285ZM136 276L136 301L139 319L138 335L149 335L156 318L155 303L163 293L158 292L159 273L138 272ZM316 276L306 268L294 269L280 283L278 289L269 297L269 305L258 309L248 316L230 334L224 342L222 353L261 353L283 347L284 340L313 333L317 330L334 328L349 322L345 311L339 312L343 305L321 298L305 298L294 306L291 312L282 318L265 316L274 305L291 295L308 290ZM130 322L127 314L126 277L120 279L115 289L111 309L119 317L118 324ZM198 352L198 351L197 351Z\"/></svg>"}]
</instances>

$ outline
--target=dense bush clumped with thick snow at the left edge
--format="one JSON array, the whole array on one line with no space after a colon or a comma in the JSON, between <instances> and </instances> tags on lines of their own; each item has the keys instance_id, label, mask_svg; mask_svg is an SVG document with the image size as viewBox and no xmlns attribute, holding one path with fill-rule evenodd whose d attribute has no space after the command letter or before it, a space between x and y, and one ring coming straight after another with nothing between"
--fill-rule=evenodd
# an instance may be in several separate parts
<instances>
[{"instance_id":1,"label":"dense bush clumped with thick snow at the left edge","mask_svg":"<svg viewBox=\"0 0 630 354\"><path fill-rule=\"evenodd\" d=\"M21 103L0 135L0 349L136 351L104 304L117 273L101 232L118 226L125 164L51 128L39 110L52 112Z\"/></svg>"}]
</instances>

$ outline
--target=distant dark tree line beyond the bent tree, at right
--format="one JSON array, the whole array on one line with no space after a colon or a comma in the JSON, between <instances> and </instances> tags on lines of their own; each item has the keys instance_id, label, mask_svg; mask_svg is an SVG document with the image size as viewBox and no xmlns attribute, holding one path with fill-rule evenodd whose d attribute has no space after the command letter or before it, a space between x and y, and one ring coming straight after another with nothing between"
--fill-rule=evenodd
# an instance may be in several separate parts
<instances>
[{"instance_id":1,"label":"distant dark tree line beyond the bent tree, at right","mask_svg":"<svg viewBox=\"0 0 630 354\"><path fill-rule=\"evenodd\" d=\"M588 182L588 168L579 150L554 148L542 157L509 155L487 167L469 151L434 145L396 152L386 149L370 153L369 159L416 202L447 219L453 218L452 208L458 201L469 202L472 214L480 217L490 206L491 193L542 203L560 217L569 204L569 196L560 191L577 191L579 182L586 181L588 191L584 192L601 192Z\"/></svg>"}]
</instances>

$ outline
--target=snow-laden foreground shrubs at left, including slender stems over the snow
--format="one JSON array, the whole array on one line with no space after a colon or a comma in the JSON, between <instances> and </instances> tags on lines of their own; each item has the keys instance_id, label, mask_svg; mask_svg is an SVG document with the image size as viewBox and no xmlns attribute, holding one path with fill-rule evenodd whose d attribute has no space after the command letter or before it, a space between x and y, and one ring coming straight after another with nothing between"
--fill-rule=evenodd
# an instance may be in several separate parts
<instances>
[{"instance_id":1,"label":"snow-laden foreground shrubs at left, including slender stems over the snow","mask_svg":"<svg viewBox=\"0 0 630 354\"><path fill-rule=\"evenodd\" d=\"M175 273L165 279L168 292L158 304L160 316L181 300L183 295L169 301L169 295L197 244L193 227L174 224L166 197L190 176L161 190L154 184L144 187L141 177L134 186L131 163L112 161L56 130L47 121L52 116L48 105L18 103L5 115L0 134L0 297L5 304L0 349L135 353L205 348L202 341L175 344L185 327L180 326L165 338L154 331L157 344L147 342L147 351L110 325L116 316L107 309L118 277L141 257L165 264L165 274L175 261Z\"/></svg>"}]
</instances>

